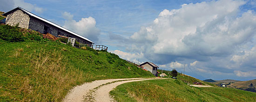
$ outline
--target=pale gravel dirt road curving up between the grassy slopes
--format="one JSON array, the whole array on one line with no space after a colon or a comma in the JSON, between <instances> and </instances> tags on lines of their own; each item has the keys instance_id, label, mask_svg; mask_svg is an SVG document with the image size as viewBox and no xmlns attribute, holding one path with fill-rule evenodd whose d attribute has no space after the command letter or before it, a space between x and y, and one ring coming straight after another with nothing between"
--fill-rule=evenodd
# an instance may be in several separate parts
<instances>
[{"instance_id":1,"label":"pale gravel dirt road curving up between the grassy slopes","mask_svg":"<svg viewBox=\"0 0 256 102\"><path fill-rule=\"evenodd\" d=\"M63 102L111 102L114 101L109 92L116 86L128 82L164 79L164 78L122 78L122 79L106 79L96 80L91 83L85 83L74 87L67 94Z\"/></svg>"}]
</instances>

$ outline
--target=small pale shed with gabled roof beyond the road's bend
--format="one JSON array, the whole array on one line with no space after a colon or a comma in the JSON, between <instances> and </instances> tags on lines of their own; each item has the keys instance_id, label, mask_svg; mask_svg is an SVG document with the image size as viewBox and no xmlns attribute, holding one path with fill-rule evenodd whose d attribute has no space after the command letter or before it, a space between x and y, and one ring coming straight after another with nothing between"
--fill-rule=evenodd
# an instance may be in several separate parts
<instances>
[{"instance_id":1,"label":"small pale shed with gabled roof beyond the road's bend","mask_svg":"<svg viewBox=\"0 0 256 102\"><path fill-rule=\"evenodd\" d=\"M154 63L145 62L145 63L142 63L140 66L143 67L144 69L148 70L152 74L154 74L156 77L158 76L157 68L159 68L159 67L156 66Z\"/></svg>"}]
</instances>

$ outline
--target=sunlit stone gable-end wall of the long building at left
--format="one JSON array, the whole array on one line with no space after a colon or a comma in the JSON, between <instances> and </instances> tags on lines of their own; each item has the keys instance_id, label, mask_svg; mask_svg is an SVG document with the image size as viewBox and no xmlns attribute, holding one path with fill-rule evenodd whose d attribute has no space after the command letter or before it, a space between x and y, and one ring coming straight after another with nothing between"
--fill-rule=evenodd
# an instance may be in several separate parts
<instances>
[{"instance_id":1,"label":"sunlit stone gable-end wall of the long building at left","mask_svg":"<svg viewBox=\"0 0 256 102\"><path fill-rule=\"evenodd\" d=\"M21 10L16 10L7 15L6 24L14 26L19 23L20 28L28 28L29 20L30 18L26 13L22 12Z\"/></svg>"}]
</instances>

